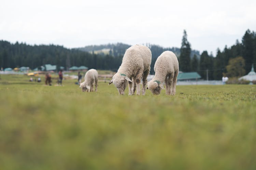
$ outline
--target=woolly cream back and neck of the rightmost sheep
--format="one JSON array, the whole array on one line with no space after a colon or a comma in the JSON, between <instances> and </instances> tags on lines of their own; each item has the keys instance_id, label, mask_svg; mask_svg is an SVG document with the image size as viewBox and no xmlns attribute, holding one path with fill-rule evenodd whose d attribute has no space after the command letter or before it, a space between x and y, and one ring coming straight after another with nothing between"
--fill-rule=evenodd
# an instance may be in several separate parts
<instances>
[{"instance_id":1,"label":"woolly cream back and neck of the rightmost sheep","mask_svg":"<svg viewBox=\"0 0 256 170\"><path fill-rule=\"evenodd\" d=\"M163 52L156 60L154 71L155 76L152 80L163 83L167 74L179 71L179 62L176 55L171 51Z\"/></svg>"}]
</instances>

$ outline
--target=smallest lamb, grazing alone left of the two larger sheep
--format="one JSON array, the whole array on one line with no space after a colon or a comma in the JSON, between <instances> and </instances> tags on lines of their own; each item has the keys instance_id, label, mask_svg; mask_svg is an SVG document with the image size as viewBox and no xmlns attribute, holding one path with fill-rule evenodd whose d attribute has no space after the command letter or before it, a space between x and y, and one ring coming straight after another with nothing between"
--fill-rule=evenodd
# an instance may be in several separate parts
<instances>
[{"instance_id":1,"label":"smallest lamb, grazing alone left of the two larger sheep","mask_svg":"<svg viewBox=\"0 0 256 170\"><path fill-rule=\"evenodd\" d=\"M98 88L98 71L95 69L90 69L86 72L84 76L84 82L80 83L80 88L82 91L91 92L93 91L93 85L95 84L95 91Z\"/></svg>"}]
</instances>

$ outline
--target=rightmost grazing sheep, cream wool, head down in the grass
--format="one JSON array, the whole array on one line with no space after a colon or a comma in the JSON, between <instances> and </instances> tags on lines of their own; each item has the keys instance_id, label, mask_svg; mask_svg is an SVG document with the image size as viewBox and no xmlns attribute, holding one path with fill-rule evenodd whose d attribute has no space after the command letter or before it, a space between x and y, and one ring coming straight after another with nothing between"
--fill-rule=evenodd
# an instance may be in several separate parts
<instances>
[{"instance_id":1,"label":"rightmost grazing sheep, cream wool, head down in the grass","mask_svg":"<svg viewBox=\"0 0 256 170\"><path fill-rule=\"evenodd\" d=\"M176 55L171 51L163 52L156 60L154 66L155 76L147 83L153 95L159 95L166 85L166 95L175 95L177 76L179 73L179 62Z\"/></svg>"}]
</instances>

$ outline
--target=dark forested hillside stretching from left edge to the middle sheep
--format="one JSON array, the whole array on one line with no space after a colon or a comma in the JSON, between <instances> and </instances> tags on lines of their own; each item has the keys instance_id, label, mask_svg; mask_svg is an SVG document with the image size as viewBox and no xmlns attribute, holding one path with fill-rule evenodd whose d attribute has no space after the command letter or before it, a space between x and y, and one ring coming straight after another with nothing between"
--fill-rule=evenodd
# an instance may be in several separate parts
<instances>
[{"instance_id":1,"label":"dark forested hillside stretching from left edge to the middle sheep","mask_svg":"<svg viewBox=\"0 0 256 170\"><path fill-rule=\"evenodd\" d=\"M57 45L27 45L26 43L12 44L0 40L0 67L30 67L40 68L52 64L68 69L72 66L87 66L88 68L117 70L123 56L98 55L77 49L67 49Z\"/></svg>"}]
</instances>

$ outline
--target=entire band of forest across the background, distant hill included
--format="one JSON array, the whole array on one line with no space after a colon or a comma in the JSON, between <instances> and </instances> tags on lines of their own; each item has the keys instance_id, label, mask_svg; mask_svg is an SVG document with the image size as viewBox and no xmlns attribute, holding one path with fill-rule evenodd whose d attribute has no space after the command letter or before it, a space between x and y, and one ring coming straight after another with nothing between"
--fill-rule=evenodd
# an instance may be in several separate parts
<instances>
[{"instance_id":1,"label":"entire band of forest across the background, distant hill included","mask_svg":"<svg viewBox=\"0 0 256 170\"><path fill-rule=\"evenodd\" d=\"M229 60L241 56L244 60L245 73L250 72L251 66L256 65L256 33L247 30L242 37L241 43L221 51L217 49L216 57L203 51L192 50L184 30L181 48L163 48L157 45L146 44L152 51L151 74L154 74L154 64L157 57L166 50L173 51L179 60L180 71L198 72L202 79L221 80L227 73ZM130 45L117 43L101 46L86 46L85 48L67 49L58 45L27 45L26 43L11 44L0 40L0 67L30 67L31 69L45 64L63 66L68 69L72 66L87 66L95 69L117 71L125 50ZM108 53L96 53L94 51L109 49ZM88 52L90 51L90 52Z\"/></svg>"}]
</instances>

